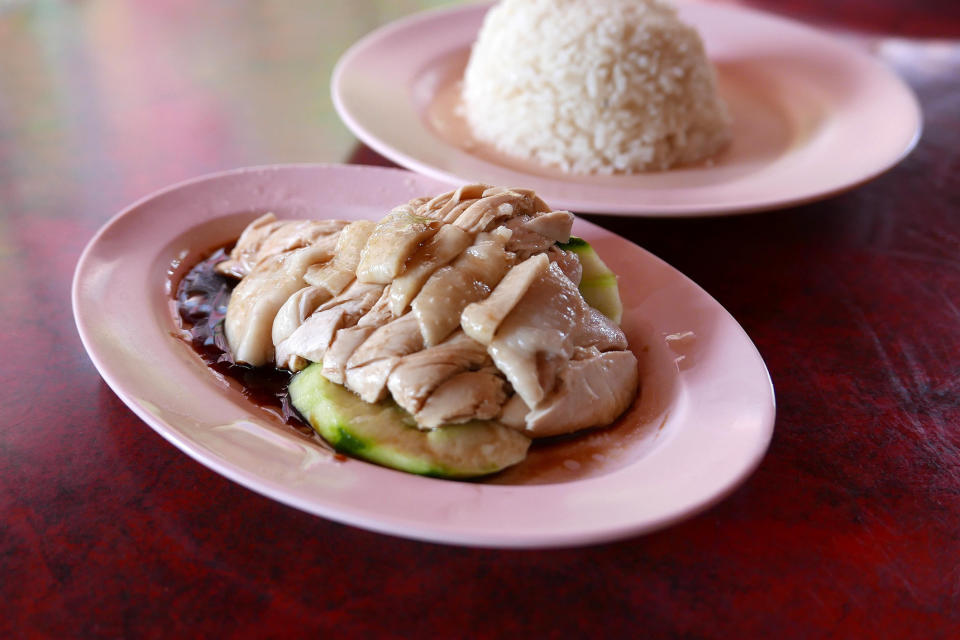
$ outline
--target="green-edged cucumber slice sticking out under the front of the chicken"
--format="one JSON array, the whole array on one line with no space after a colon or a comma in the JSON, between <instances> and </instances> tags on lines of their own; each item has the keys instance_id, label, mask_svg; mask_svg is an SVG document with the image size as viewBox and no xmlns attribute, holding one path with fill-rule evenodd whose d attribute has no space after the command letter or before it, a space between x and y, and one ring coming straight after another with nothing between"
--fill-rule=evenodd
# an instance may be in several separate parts
<instances>
[{"instance_id":1,"label":"green-edged cucumber slice sticking out under the front of the chicken","mask_svg":"<svg viewBox=\"0 0 960 640\"><path fill-rule=\"evenodd\" d=\"M475 420L421 431L392 400L369 404L312 364L290 381L290 401L342 453L437 478L472 478L523 460L530 439L498 422Z\"/></svg>"}]
</instances>

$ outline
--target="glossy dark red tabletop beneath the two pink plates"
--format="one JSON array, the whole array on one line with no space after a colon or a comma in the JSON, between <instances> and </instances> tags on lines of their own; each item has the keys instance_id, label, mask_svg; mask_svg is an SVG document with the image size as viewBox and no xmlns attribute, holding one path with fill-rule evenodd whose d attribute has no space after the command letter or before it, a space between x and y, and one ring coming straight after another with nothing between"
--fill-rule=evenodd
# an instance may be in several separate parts
<instances>
[{"instance_id":1,"label":"glossy dark red tabletop beneath the two pink plates","mask_svg":"<svg viewBox=\"0 0 960 640\"><path fill-rule=\"evenodd\" d=\"M577 549L378 535L229 482L103 383L69 297L96 230L216 170L389 164L340 124L329 74L439 4L0 3L0 636L958 637L955 2L753 3L917 92L923 137L880 178L747 216L588 216L709 291L769 367L770 450L697 517Z\"/></svg>"}]
</instances>

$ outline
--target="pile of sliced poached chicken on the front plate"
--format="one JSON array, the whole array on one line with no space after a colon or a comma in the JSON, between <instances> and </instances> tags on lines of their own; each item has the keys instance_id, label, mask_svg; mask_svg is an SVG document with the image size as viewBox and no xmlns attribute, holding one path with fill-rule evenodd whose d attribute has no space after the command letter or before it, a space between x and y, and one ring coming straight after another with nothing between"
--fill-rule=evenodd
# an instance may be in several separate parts
<instances>
[{"instance_id":1,"label":"pile of sliced poached chicken on the front plate","mask_svg":"<svg viewBox=\"0 0 960 640\"><path fill-rule=\"evenodd\" d=\"M494 420L530 437L613 422L637 361L584 300L560 243L573 216L482 184L369 221L279 221L244 231L221 273L241 278L225 332L234 358L390 397L420 429Z\"/></svg>"}]
</instances>

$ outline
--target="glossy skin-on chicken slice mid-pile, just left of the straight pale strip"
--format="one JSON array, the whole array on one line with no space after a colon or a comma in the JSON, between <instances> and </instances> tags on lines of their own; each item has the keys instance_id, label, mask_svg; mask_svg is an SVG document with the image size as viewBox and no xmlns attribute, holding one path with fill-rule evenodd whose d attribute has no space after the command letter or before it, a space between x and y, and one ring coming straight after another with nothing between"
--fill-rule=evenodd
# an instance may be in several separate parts
<instances>
[{"instance_id":1,"label":"glossy skin-on chicken slice mid-pile, just left of the straight pale strip","mask_svg":"<svg viewBox=\"0 0 960 640\"><path fill-rule=\"evenodd\" d=\"M481 233L459 258L438 269L423 285L410 306L428 346L453 333L463 308L486 298L507 273L513 262L513 256L504 251L509 238L510 232L502 227Z\"/></svg>"}]
</instances>

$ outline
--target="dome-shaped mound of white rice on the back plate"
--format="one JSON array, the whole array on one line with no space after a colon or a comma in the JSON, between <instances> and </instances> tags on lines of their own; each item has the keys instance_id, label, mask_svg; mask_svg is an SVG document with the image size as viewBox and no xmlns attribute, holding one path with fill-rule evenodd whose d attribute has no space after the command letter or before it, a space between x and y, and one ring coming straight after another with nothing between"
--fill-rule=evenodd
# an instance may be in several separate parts
<instances>
[{"instance_id":1,"label":"dome-shaped mound of white rice on the back plate","mask_svg":"<svg viewBox=\"0 0 960 640\"><path fill-rule=\"evenodd\" d=\"M730 138L703 43L663 0L502 0L463 113L479 140L573 173L667 169Z\"/></svg>"}]
</instances>

